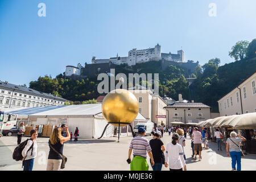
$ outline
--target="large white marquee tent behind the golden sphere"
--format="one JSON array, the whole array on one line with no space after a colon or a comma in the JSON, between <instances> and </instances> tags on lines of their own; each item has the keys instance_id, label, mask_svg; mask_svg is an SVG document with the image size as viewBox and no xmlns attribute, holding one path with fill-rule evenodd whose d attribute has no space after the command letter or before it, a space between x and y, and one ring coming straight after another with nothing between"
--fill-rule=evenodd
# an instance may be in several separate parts
<instances>
[{"instance_id":1,"label":"large white marquee tent behind the golden sphere","mask_svg":"<svg viewBox=\"0 0 256 182\"><path fill-rule=\"evenodd\" d=\"M100 137L108 124L102 116L101 104L32 107L10 113L18 114L18 118L28 118L30 124L60 125L65 123L69 127L69 132L73 133L78 127L79 137L84 138ZM139 113L135 122L147 122L147 119ZM113 135L114 126L109 125L104 137L112 137Z\"/></svg>"}]
</instances>

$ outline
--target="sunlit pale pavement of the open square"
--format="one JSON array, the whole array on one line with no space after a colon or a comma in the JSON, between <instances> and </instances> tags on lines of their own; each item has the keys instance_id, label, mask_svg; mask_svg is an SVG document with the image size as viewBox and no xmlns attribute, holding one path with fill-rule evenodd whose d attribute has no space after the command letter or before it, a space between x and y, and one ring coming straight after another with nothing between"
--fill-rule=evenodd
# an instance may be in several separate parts
<instances>
[{"instance_id":1,"label":"sunlit pale pavement of the open square","mask_svg":"<svg viewBox=\"0 0 256 182\"><path fill-rule=\"evenodd\" d=\"M150 140L152 137L146 137ZM22 141L27 139L23 137ZM47 166L47 157L49 152L49 138L38 138L38 154L34 162L35 171L45 171ZM103 139L79 139L78 142L64 143L64 155L68 161L63 170L96 170L96 171L129 171L130 165L126 163L130 140L132 137L121 137L120 142L117 142L117 137ZM164 146L171 141L168 133L164 133L162 138ZM0 138L0 171L11 170L21 171L22 162L13 160L12 155L16 147L16 137L1 137ZM186 146L184 147L185 155L187 156L188 171L230 171L231 158L226 156L225 146L222 151L217 150L217 144L209 142L209 150L203 150L202 160L192 160L191 139L187 138ZM147 158L148 164L149 158ZM256 170L256 155L247 154L242 158L242 170ZM152 170L150 166L150 170ZM162 171L168 171L168 168L163 166Z\"/></svg>"}]
</instances>

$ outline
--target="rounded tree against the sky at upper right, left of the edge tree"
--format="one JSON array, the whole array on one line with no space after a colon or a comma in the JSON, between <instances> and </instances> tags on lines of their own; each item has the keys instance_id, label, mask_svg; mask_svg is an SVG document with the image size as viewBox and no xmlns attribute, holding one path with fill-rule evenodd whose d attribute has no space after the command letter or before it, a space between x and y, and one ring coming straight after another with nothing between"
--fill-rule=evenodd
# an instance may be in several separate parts
<instances>
[{"instance_id":1,"label":"rounded tree against the sky at upper right, left of the edge tree","mask_svg":"<svg viewBox=\"0 0 256 182\"><path fill-rule=\"evenodd\" d=\"M229 56L233 57L236 61L245 59L246 50L249 45L247 40L241 40L232 47L232 51L229 52Z\"/></svg>"}]
</instances>

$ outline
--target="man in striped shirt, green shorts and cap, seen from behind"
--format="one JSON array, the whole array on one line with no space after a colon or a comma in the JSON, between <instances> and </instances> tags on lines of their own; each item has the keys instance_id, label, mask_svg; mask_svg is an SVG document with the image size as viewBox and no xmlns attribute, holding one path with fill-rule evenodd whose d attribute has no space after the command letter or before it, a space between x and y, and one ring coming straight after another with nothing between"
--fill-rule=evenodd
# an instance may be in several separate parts
<instances>
[{"instance_id":1,"label":"man in striped shirt, green shorts and cap, seen from behind","mask_svg":"<svg viewBox=\"0 0 256 182\"><path fill-rule=\"evenodd\" d=\"M145 137L144 127L139 127L138 136L131 140L128 160L131 161L131 171L148 171L147 154L151 159L151 166L154 166L154 158L151 152L150 144ZM131 160L131 151L133 151L133 160Z\"/></svg>"}]
</instances>

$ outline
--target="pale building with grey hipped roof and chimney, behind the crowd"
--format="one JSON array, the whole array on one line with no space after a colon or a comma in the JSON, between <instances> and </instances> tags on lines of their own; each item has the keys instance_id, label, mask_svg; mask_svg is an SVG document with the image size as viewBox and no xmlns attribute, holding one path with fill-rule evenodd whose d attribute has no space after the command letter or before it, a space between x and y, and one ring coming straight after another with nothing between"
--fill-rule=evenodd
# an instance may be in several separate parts
<instances>
[{"instance_id":1,"label":"pale building with grey hipped roof and chimney, behind the crowd","mask_svg":"<svg viewBox=\"0 0 256 182\"><path fill-rule=\"evenodd\" d=\"M199 123L211 118L210 107L200 102L183 102L181 94L179 101L164 107L167 110L167 125L172 122Z\"/></svg>"}]
</instances>

